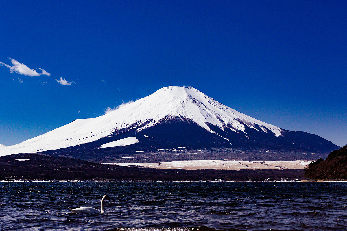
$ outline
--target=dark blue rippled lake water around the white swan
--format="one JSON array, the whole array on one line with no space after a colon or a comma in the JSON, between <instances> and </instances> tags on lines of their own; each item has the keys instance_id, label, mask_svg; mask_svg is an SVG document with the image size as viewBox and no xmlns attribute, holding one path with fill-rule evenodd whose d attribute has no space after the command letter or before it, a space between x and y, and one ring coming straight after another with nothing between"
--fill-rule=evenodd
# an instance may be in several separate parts
<instances>
[{"instance_id":1,"label":"dark blue rippled lake water around the white swan","mask_svg":"<svg viewBox=\"0 0 347 231\"><path fill-rule=\"evenodd\" d=\"M0 230L347 230L347 183L0 183ZM105 213L73 214L67 206Z\"/></svg>"}]
</instances>

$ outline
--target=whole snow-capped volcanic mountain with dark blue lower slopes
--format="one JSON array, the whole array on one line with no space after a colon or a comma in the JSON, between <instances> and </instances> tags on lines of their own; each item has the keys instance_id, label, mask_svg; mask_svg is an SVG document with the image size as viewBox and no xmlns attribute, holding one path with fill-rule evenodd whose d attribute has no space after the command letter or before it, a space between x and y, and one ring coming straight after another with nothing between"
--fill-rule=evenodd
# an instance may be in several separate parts
<instances>
[{"instance_id":1,"label":"whole snow-capped volcanic mountain with dark blue lower slopes","mask_svg":"<svg viewBox=\"0 0 347 231\"><path fill-rule=\"evenodd\" d=\"M76 119L16 145L0 145L0 156L40 152L97 160L153 152L153 160L160 159L160 153L189 150L194 158L206 158L204 153L223 153L220 158L226 159L242 157L228 153L253 153L256 159L262 151L283 159L297 153L324 156L337 148L318 135L284 130L237 112L192 87L170 86L108 114Z\"/></svg>"}]
</instances>

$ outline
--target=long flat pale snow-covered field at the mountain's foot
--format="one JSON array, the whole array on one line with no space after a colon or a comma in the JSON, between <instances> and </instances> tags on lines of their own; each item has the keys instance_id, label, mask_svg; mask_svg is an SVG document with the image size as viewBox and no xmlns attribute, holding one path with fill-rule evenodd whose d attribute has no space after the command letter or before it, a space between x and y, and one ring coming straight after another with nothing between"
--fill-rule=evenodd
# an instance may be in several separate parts
<instances>
[{"instance_id":1,"label":"long flat pale snow-covered field at the mountain's foot","mask_svg":"<svg viewBox=\"0 0 347 231\"><path fill-rule=\"evenodd\" d=\"M104 163L119 166L141 166L144 168L163 169L215 169L215 170L241 170L241 169L303 169L312 160L294 161L228 161L228 160L179 160L160 163Z\"/></svg>"}]
</instances>

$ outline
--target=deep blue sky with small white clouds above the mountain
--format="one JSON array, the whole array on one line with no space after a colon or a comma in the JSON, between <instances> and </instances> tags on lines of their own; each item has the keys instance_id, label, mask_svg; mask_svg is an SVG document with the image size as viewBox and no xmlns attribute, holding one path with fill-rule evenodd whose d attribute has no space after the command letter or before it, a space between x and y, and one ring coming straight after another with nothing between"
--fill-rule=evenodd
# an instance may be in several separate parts
<instances>
[{"instance_id":1,"label":"deep blue sky with small white clouds above the mountain","mask_svg":"<svg viewBox=\"0 0 347 231\"><path fill-rule=\"evenodd\" d=\"M4 1L0 143L174 85L347 144L347 1Z\"/></svg>"}]
</instances>

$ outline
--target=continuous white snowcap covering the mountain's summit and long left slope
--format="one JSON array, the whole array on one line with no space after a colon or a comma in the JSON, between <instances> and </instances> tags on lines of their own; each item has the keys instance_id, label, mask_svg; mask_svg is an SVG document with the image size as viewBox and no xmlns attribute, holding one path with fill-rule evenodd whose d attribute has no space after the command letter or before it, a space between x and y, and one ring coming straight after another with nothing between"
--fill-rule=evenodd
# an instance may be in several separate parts
<instances>
[{"instance_id":1,"label":"continuous white snowcap covering the mountain's summit and long left slope","mask_svg":"<svg viewBox=\"0 0 347 231\"><path fill-rule=\"evenodd\" d=\"M208 124L244 133L245 126L281 136L282 130L220 104L192 87L164 87L153 94L122 106L108 114L75 121L16 145L0 146L0 156L67 148L101 139L115 130L137 131L160 123L162 119L187 118L215 133ZM217 133L215 133L217 134ZM226 138L225 138L226 139Z\"/></svg>"}]
</instances>

